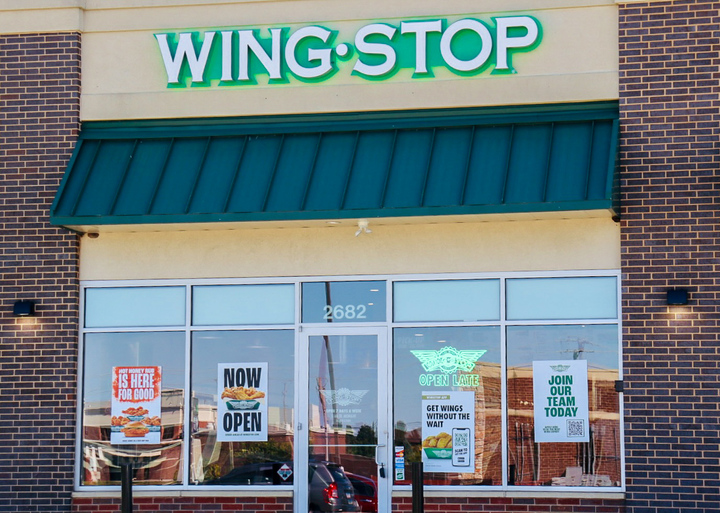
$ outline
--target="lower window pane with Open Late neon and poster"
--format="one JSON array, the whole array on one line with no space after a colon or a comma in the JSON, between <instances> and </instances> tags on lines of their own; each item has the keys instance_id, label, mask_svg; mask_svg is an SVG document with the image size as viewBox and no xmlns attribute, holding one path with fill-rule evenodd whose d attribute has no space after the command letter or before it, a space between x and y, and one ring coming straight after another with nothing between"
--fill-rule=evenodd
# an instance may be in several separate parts
<instances>
[{"instance_id":1,"label":"lower window pane with Open Late neon and poster","mask_svg":"<svg viewBox=\"0 0 720 513\"><path fill-rule=\"evenodd\" d=\"M497 326L394 331L395 450L405 458L395 484L410 484L422 459L428 485L502 484L500 345ZM468 440L457 464L453 430Z\"/></svg>"}]
</instances>

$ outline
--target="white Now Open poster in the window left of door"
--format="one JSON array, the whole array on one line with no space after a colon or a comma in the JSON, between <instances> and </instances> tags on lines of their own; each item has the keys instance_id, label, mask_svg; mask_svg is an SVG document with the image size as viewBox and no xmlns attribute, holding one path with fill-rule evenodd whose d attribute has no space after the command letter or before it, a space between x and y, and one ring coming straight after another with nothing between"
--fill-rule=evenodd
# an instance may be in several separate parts
<instances>
[{"instance_id":1,"label":"white Now Open poster in the window left of door","mask_svg":"<svg viewBox=\"0 0 720 513\"><path fill-rule=\"evenodd\" d=\"M219 442L267 442L267 362L218 364Z\"/></svg>"}]
</instances>

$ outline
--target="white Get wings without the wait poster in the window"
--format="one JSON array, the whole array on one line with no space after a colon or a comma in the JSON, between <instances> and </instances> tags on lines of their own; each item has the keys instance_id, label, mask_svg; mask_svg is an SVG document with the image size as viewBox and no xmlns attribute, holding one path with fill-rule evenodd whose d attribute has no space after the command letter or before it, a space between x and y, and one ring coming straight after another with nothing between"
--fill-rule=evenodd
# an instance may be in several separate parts
<instances>
[{"instance_id":1,"label":"white Get wings without the wait poster in the window","mask_svg":"<svg viewBox=\"0 0 720 513\"><path fill-rule=\"evenodd\" d=\"M422 393L425 472L475 471L475 392Z\"/></svg>"}]
</instances>

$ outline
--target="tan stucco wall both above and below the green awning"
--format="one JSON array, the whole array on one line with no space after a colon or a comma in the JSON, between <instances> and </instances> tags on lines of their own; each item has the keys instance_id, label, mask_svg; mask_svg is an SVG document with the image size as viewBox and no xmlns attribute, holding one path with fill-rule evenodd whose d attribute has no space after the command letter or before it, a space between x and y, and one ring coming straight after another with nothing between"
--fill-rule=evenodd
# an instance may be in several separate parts
<instances>
[{"instance_id":1,"label":"tan stucco wall both above and below the green awning","mask_svg":"<svg viewBox=\"0 0 720 513\"><path fill-rule=\"evenodd\" d=\"M82 118L116 120L399 110L617 99L614 0L0 0L0 32L82 32ZM319 84L168 89L154 33L319 24L346 34L368 23L531 15L543 41L517 73L417 80L333 77ZM164 227L83 237L82 279L494 272L619 268L619 229L574 220L414 219L413 224L288 223ZM199 229L198 229L199 228ZM228 229L232 228L232 229ZM237 229L235 229L237 228ZM134 230L135 228L130 228ZM169 230L169 231L168 231ZM532 248L530 250L529 248Z\"/></svg>"}]
</instances>

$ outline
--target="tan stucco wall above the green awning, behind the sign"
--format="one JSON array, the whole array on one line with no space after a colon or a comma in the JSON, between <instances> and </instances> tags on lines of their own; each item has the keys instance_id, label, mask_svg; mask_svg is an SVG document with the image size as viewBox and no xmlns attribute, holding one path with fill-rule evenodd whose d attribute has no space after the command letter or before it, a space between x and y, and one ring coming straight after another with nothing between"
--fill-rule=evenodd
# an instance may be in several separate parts
<instances>
[{"instance_id":1,"label":"tan stucco wall above the green awning, behind the sign","mask_svg":"<svg viewBox=\"0 0 720 513\"><path fill-rule=\"evenodd\" d=\"M81 30L84 120L247 116L613 100L618 97L614 0L0 0L0 29ZM15 7L11 7L15 5ZM543 40L516 53L513 75L474 77L444 67L432 79L401 70L390 80L351 76L351 66L317 84L168 89L153 34L214 28L322 25L352 42L372 22L530 15ZM219 36L218 36L219 37Z\"/></svg>"}]
</instances>

